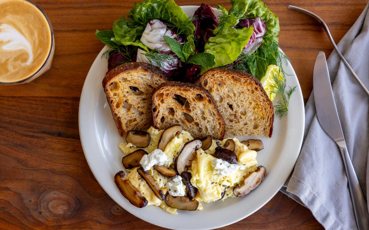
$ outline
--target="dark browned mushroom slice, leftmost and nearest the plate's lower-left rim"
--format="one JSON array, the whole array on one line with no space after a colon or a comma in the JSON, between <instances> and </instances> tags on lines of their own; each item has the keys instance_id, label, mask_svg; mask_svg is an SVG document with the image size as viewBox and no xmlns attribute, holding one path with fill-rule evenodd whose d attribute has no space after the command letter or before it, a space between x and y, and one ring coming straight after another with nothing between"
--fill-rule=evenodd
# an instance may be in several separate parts
<instances>
[{"instance_id":1,"label":"dark browned mushroom slice, leftmost and nearest the plate's lower-left rim","mask_svg":"<svg viewBox=\"0 0 369 230\"><path fill-rule=\"evenodd\" d=\"M148 204L147 199L135 188L130 180L124 178L124 171L118 171L114 176L114 182L121 194L137 208L143 208Z\"/></svg>"}]
</instances>

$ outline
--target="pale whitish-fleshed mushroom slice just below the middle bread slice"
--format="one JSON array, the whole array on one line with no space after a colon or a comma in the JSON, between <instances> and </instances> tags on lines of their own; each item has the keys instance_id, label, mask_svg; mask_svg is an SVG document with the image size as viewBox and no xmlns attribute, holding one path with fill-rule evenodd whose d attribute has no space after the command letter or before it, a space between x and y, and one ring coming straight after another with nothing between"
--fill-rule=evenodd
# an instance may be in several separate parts
<instances>
[{"instance_id":1,"label":"pale whitish-fleshed mushroom slice just below the middle bread slice","mask_svg":"<svg viewBox=\"0 0 369 230\"><path fill-rule=\"evenodd\" d=\"M187 166L191 165L191 161L196 156L196 151L199 148L201 148L201 141L199 139L187 141L184 144L182 151L178 154L174 162L174 167L179 175L183 171L186 171Z\"/></svg>"}]
</instances>

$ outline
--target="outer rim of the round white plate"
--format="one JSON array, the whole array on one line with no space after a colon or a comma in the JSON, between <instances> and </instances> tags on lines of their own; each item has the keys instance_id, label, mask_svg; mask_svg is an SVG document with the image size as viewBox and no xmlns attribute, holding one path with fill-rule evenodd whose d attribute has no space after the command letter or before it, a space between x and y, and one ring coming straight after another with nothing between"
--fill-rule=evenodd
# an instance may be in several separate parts
<instances>
[{"instance_id":1,"label":"outer rim of the round white plate","mask_svg":"<svg viewBox=\"0 0 369 230\"><path fill-rule=\"evenodd\" d=\"M194 6L194 5L186 5L186 6L180 6L182 9L183 8L193 8L193 7L196 7L196 8L198 8L199 6ZM213 8L213 7L212 7ZM213 8L213 10L216 10L215 8ZM109 195L109 197L111 198L111 199L113 199L114 200L114 202L116 202L118 205L120 205L119 204L119 202L114 198L114 196L111 194L111 192L109 192L109 191L107 191L107 189L106 188L104 188L104 186L102 185L102 183L100 182L100 179L99 179L99 176L97 176L97 174L94 172L94 170L93 170L93 168L92 168L92 164L91 164L91 162L90 162L90 160L89 160L89 157L87 157L87 154L86 154L86 148L85 148L85 146L86 145L84 145L84 141L85 141L85 139L83 138L83 134L82 134L82 131L81 131L81 124L82 124L82 122L81 122L81 109L82 109L82 102L83 102L83 94L84 93L86 93L86 91L87 91L87 85L86 85L86 82L87 82L87 78L91 75L91 72L92 72L92 67L94 66L94 64L95 64L95 62L98 60L98 59L100 59L100 57L101 57L101 54L103 53L103 51L104 51L104 49L106 49L107 48L107 46L104 46L103 47L103 49L101 49L101 51L99 52L99 54L97 55L97 57L96 57L96 59L93 61L93 63L92 63L92 65L91 65L91 67L90 67L90 70L89 70L89 72L87 73L87 75L86 75L86 78L85 78L85 82L84 82L84 84L83 84L83 88L82 88L82 91L81 91L81 95L80 95L80 102L79 102L79 112L78 112L78 127L79 127L79 135L80 135L80 141L81 141L81 145L82 145L82 149L83 149L83 153L84 153L84 155L85 155L85 158L86 158L86 161L87 161L87 164L89 165L89 167L90 167L90 170L92 171L92 174L94 175L94 177L96 178L96 180L97 180L97 182L99 183L99 185L101 186L101 188L103 188L103 190L107 193L107 195ZM282 51L283 52L283 51ZM299 98L300 98L300 102L299 103L301 103L301 105L302 105L302 109L303 109L303 111L302 111L302 128L301 128L301 132L300 132L300 137L299 137L299 139L300 139L300 143L299 143L299 148L298 148L298 154L296 154L296 156L294 157L294 159L293 159L293 164L290 166L290 168L288 169L288 170L285 170L285 171L288 171L289 173L288 173L288 176L286 177L286 180L288 179L288 177L289 177L289 175L292 173L292 170L293 170L293 168L294 168L294 166L295 166L295 164L296 164L296 161L297 161L297 158L299 157L299 154L300 154L300 151L301 151L301 146L302 146L302 144L303 144L303 135L304 135L304 129L305 129L305 109L304 109L304 101L303 101L303 95L302 95L302 90L301 90L301 86L300 86L300 82L299 82L299 79L297 78L297 75L296 75L296 72L294 71L294 69L293 69L293 66L292 66L292 64L290 63L290 61L288 61L288 64L291 66L291 69L292 69L292 71L293 71L293 75L294 75L294 77L296 78L296 81L297 81L297 88L299 89ZM268 203L273 197L275 197L275 195L277 194L277 192L278 191L280 191L280 189L282 188L282 186L284 185L284 183L286 182L286 180L284 180L284 182L279 186L279 188L275 191L275 192L273 192L273 195L272 196L270 196L270 198L268 198L268 199L266 199L265 200L265 202L262 202L262 204L261 205L259 205L258 207L254 207L254 208L252 208L251 209L251 212L250 213L248 213L248 214L246 214L245 216L243 216L243 217L239 217L239 218L237 218L237 219L234 219L234 220L231 220L231 221L225 221L225 223L224 224L218 224L218 225L214 225L214 226L211 226L210 228L209 227L204 227L204 228L197 228L197 229L199 229L199 230L205 230L205 229L216 229L216 228L220 228L220 227L224 227L224 226L228 226L228 225L230 225L230 224L233 224L233 223L236 223L236 222L239 222L240 220L242 220L242 219L245 219L246 217L248 217L248 216L250 216L250 215L252 215L252 214L254 214L257 210L259 210L260 208L262 208L266 203ZM120 205L121 206L121 205ZM122 208L124 208L123 206L122 206ZM125 209L125 208L124 208ZM127 209L125 209L127 212L130 212L129 210L127 210ZM148 223L151 223L151 224L154 224L154 225L156 225L156 226L160 226L160 227L165 227L165 228L169 228L169 229L174 229L173 227L170 227L170 226L167 226L167 225L165 225L165 224L157 224L157 223L152 223L152 222L150 222L148 219L146 219L145 217L139 217L139 216L137 216L137 215L135 215L134 213L132 213L132 212L130 212L132 215L134 215L134 216L136 216L137 218L139 218L139 219L142 219L142 220L144 220L144 221L146 221L146 222L148 222ZM186 228L177 228L176 227L176 229L186 229Z\"/></svg>"}]
</instances>

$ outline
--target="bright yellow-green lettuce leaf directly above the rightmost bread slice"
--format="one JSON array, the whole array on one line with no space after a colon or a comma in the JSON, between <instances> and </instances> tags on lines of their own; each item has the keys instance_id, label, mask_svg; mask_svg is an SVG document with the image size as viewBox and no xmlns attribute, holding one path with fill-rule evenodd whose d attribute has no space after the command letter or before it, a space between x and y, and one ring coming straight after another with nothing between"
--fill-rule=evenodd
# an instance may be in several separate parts
<instances>
[{"instance_id":1,"label":"bright yellow-green lettuce leaf directly above the rightmost bread slice","mask_svg":"<svg viewBox=\"0 0 369 230\"><path fill-rule=\"evenodd\" d=\"M225 21L223 29L215 37L208 39L205 45L205 52L215 56L215 65L213 67L231 64L247 45L254 27L232 28L238 23L237 21L234 15L230 15ZM201 68L201 74L208 69L210 68Z\"/></svg>"}]
</instances>

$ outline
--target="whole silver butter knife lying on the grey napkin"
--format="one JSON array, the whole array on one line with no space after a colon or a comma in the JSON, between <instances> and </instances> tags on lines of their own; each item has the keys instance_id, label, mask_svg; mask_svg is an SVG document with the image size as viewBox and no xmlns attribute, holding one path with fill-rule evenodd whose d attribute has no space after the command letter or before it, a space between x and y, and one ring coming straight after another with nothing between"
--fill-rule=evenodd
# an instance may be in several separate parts
<instances>
[{"instance_id":1,"label":"whole silver butter knife lying on the grey napkin","mask_svg":"<svg viewBox=\"0 0 369 230\"><path fill-rule=\"evenodd\" d=\"M358 177L356 177L354 167L348 155L346 141L341 124L339 123L337 108L333 97L327 61L325 60L325 54L323 52L319 52L315 60L313 91L320 126L337 143L342 155L358 229L369 230L368 207Z\"/></svg>"}]
</instances>

